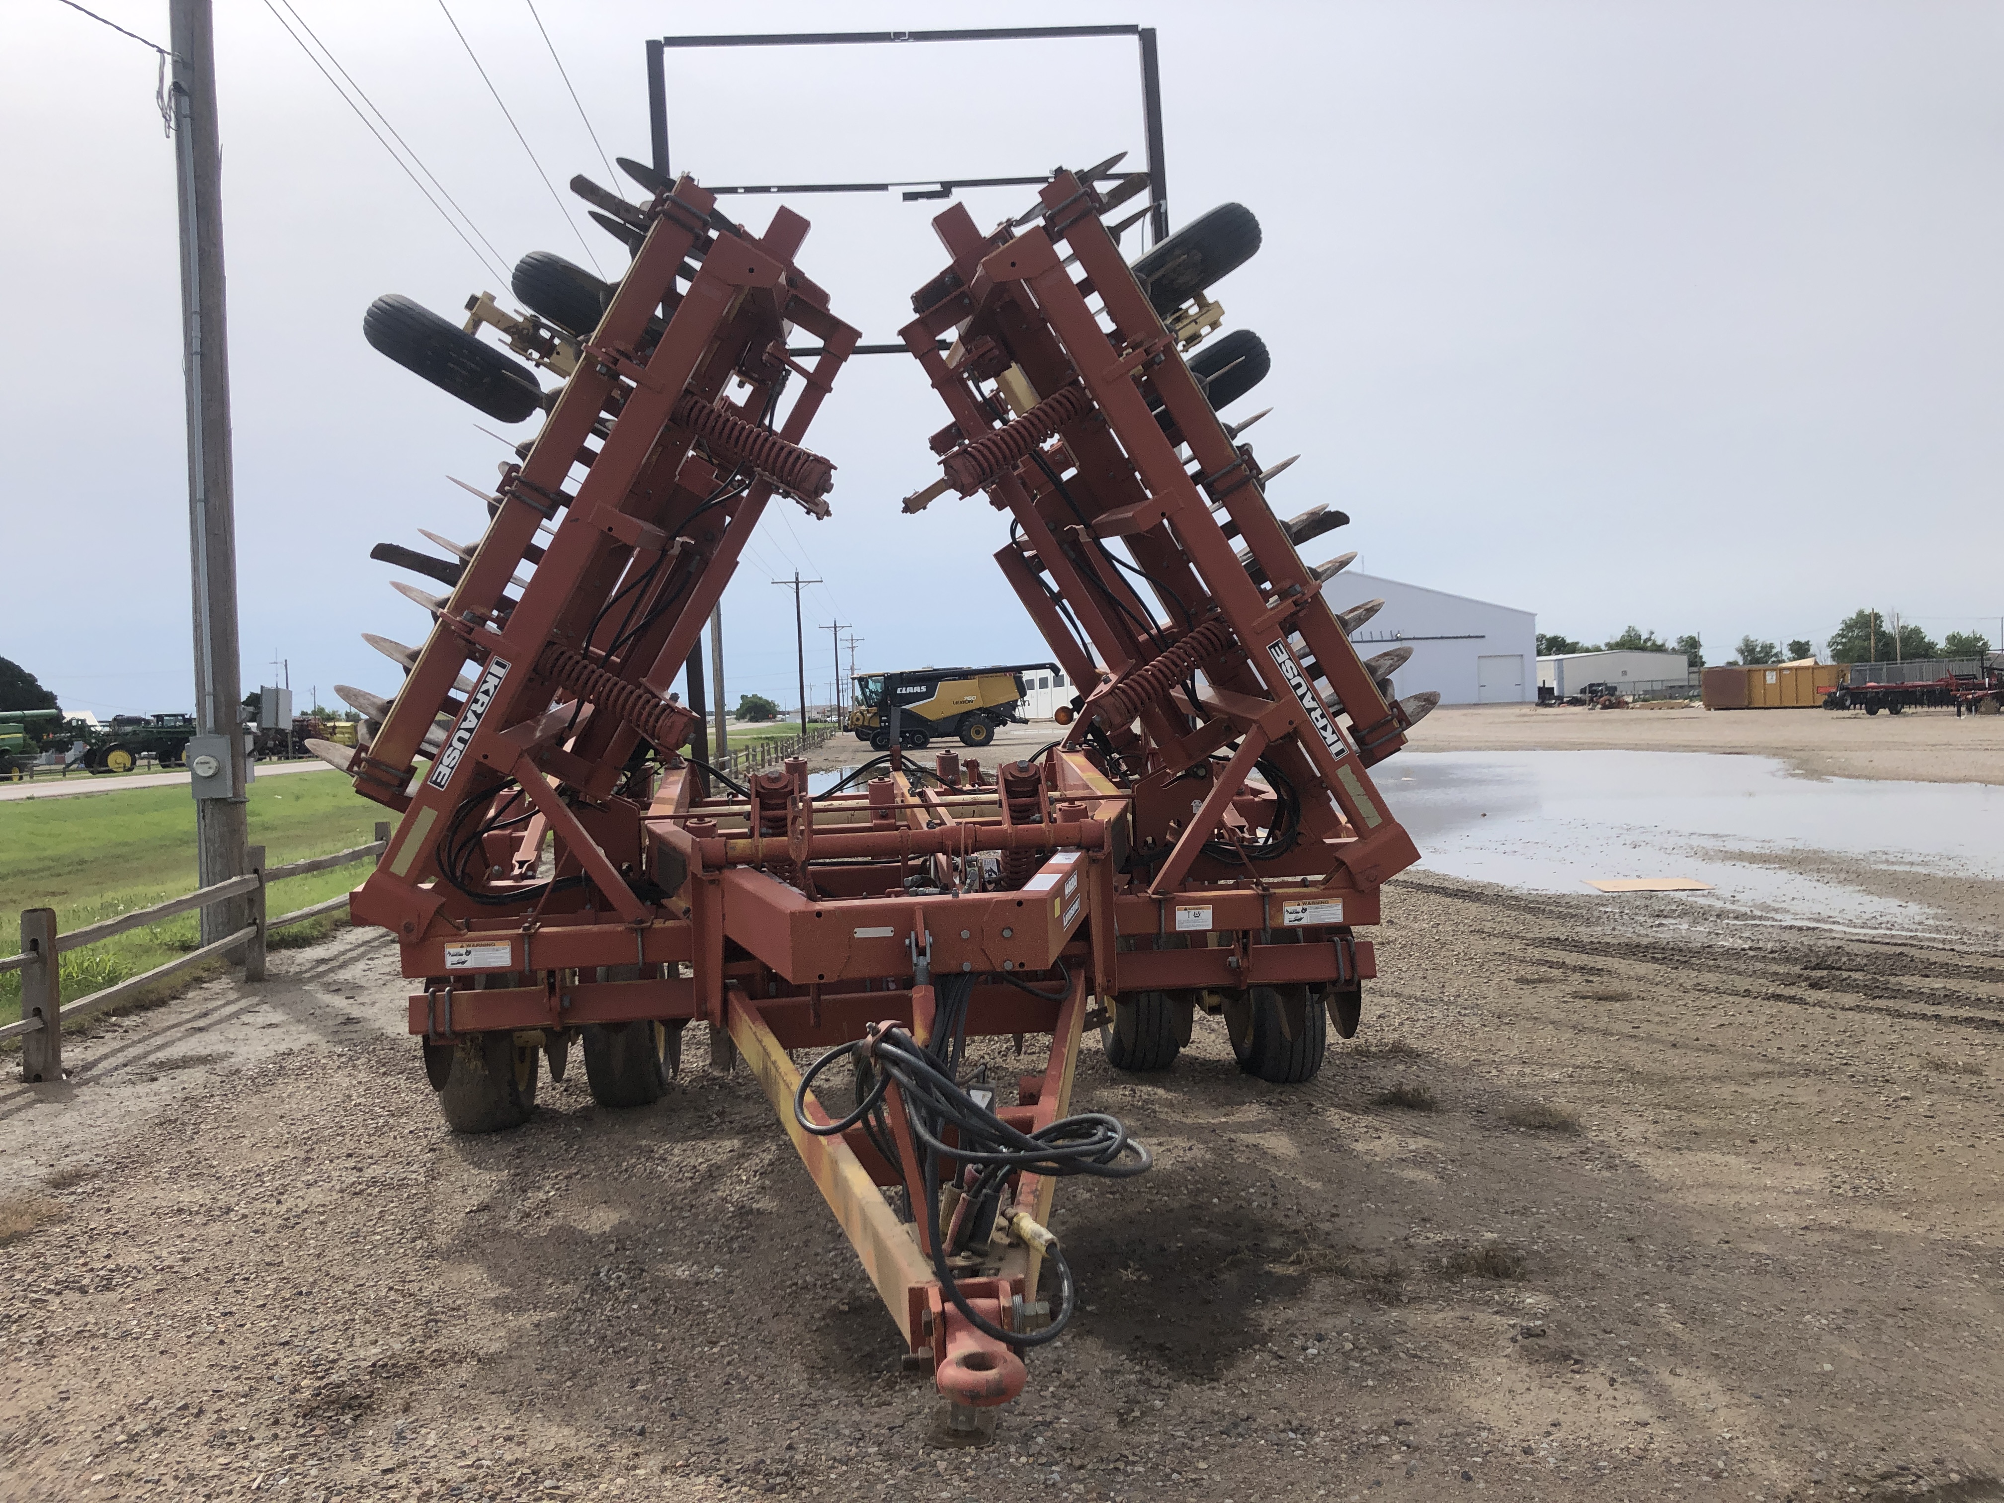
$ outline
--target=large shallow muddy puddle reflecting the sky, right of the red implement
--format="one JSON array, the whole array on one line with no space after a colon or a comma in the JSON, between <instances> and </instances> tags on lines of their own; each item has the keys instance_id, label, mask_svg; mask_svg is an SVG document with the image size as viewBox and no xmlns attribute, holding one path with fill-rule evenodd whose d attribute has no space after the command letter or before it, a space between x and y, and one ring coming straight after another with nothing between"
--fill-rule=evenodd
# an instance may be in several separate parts
<instances>
[{"instance_id":1,"label":"large shallow muddy puddle reflecting the sky, right of the red implement","mask_svg":"<svg viewBox=\"0 0 2004 1503\"><path fill-rule=\"evenodd\" d=\"M1379 780L1425 868L1511 888L1693 878L1713 890L1675 902L1874 930L1994 922L2004 894L2004 788L1988 784L1812 780L1697 752L1405 752Z\"/></svg>"}]
</instances>

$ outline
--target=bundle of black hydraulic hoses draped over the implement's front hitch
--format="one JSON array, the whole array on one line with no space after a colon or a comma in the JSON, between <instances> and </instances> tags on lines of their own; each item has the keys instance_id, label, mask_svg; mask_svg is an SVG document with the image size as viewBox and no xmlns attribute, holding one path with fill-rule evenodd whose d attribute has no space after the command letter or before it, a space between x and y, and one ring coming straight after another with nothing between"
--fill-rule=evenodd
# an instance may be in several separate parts
<instances>
[{"instance_id":1,"label":"bundle of black hydraulic hoses draped over the implement's front hitch","mask_svg":"<svg viewBox=\"0 0 2004 1503\"><path fill-rule=\"evenodd\" d=\"M1036 1132L1022 1132L994 1114L984 1102L960 1082L960 1058L966 1046L968 1002L974 996L974 976L958 974L940 984L938 1012L934 1016L934 1042L920 1046L910 1032L892 1024L874 1030L870 1038L842 1044L818 1058L800 1080L794 1092L794 1120L816 1136L836 1136L862 1124L872 1142L886 1152L892 1162L900 1162L890 1126L884 1120L886 1100L898 1090L912 1128L912 1138L924 1154L920 1182L922 1204L912 1210L924 1216L926 1242L932 1250L932 1267L940 1287L960 1309L960 1315L986 1337L1012 1347L1040 1347L1054 1341L1072 1311L1078 1307L1078 1291L1072 1283L1072 1267L1066 1263L1056 1238L1042 1228L1016 1228L1030 1232L1042 1246L1044 1257L1056 1275L1050 1325L1042 1331L1004 1331L984 1321L962 1297L950 1259L986 1240L996 1218L1012 1220L1006 1206L1012 1198L1010 1182L1020 1174L1094 1174L1098 1178L1132 1178L1154 1162L1146 1146L1126 1134L1118 1118L1104 1112L1080 1112L1064 1116ZM856 1064L858 1104L840 1122L818 1124L808 1116L808 1090L814 1080L838 1058L850 1056ZM868 1084L864 1084L868 1082ZM952 1128L956 1142L948 1144L946 1130ZM942 1160L952 1166L942 1184ZM902 1164L910 1182L910 1164ZM942 1188L954 1188L956 1196L950 1214L942 1222ZM1034 1226L1034 1224L1032 1224Z\"/></svg>"}]
</instances>

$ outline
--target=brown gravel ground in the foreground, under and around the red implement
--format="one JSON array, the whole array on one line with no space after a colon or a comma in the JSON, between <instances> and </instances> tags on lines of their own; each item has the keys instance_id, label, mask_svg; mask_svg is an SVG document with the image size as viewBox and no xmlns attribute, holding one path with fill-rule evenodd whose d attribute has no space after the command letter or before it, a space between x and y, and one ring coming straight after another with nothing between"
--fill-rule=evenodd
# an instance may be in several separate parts
<instances>
[{"instance_id":1,"label":"brown gravel ground in the foreground, under and around the red implement","mask_svg":"<svg viewBox=\"0 0 2004 1503\"><path fill-rule=\"evenodd\" d=\"M0 1497L2004 1497L1994 936L1387 914L1309 1086L1088 1048L1158 1166L1060 1194L1086 1309L984 1451L741 1068L455 1138L393 952L275 954L0 1094Z\"/></svg>"}]
</instances>

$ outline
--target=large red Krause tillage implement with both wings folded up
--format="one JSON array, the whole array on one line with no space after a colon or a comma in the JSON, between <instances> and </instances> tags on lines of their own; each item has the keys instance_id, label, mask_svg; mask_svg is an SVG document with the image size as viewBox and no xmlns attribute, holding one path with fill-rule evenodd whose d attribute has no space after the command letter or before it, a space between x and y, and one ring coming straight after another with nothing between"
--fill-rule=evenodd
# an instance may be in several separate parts
<instances>
[{"instance_id":1,"label":"large red Krause tillage implement with both wings folded up","mask_svg":"<svg viewBox=\"0 0 2004 1503\"><path fill-rule=\"evenodd\" d=\"M487 295L465 329L371 309L371 343L419 375L547 417L477 545L377 549L449 593L399 585L429 639L373 639L403 689L345 689L365 735L317 745L403 816L351 912L421 980L409 1028L459 1130L525 1120L573 1044L605 1106L659 1100L691 1020L713 1062L741 1052L948 1431L978 1437L1078 1307L1056 1180L1150 1164L1114 1118L1070 1112L1084 1032L1160 1070L1198 1010L1222 1014L1250 1074L1311 1078L1375 974L1355 930L1417 858L1367 768L1429 701L1389 697L1397 651L1351 649L1369 607L1323 605L1341 561L1295 553L1341 513L1279 523L1214 413L1265 373L1259 341L1184 361L1250 214L1130 271L1104 174L1060 172L1022 234L940 216L954 265L904 339L954 417L934 489L986 489L1020 527L1000 561L1084 687L1070 735L984 772L918 766L894 727L822 794L802 760L747 786L687 760L697 717L663 695L772 495L826 515L832 465L802 441L856 331L794 267L806 220L782 208L754 236L689 178L625 168L647 204L573 184L633 248L617 287L537 255L521 315ZM563 385L543 393L481 325ZM818 341L812 367L790 329ZM996 1054L1030 1036L1042 1068Z\"/></svg>"}]
</instances>

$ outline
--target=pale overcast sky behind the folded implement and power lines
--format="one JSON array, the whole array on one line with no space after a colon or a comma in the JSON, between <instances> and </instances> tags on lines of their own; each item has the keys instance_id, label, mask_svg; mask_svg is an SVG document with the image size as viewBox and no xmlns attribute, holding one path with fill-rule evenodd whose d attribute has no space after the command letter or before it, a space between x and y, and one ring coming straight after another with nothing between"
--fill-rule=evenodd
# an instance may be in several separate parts
<instances>
[{"instance_id":1,"label":"pale overcast sky behind the folded implement and power lines","mask_svg":"<svg viewBox=\"0 0 2004 1503\"><path fill-rule=\"evenodd\" d=\"M449 0L547 174L605 176L525 0ZM623 248L559 212L437 0L293 0L503 265ZM162 0L92 8L166 40ZM665 30L992 24L944 4L541 0L609 154L647 156ZM1236 198L1265 250L1216 291L1273 375L1240 411L1301 451L1283 515L1373 573L1535 609L1822 639L1866 603L1996 641L2004 479L2004 10L1996 4L1040 4L1160 28L1170 216ZM375 355L379 293L455 315L501 279L419 196L265 0L218 0L244 685L391 691L361 631L421 641L369 561L473 539L503 443ZM188 709L172 146L154 56L56 0L0 8L6 365L0 655L66 707ZM683 52L675 166L715 184L1024 174L1142 150L1132 42ZM631 184L619 184L631 190ZM567 208L575 204L563 194ZM970 196L984 224L1028 190ZM804 196L802 269L890 339L944 261L940 204ZM754 226L770 202L735 200ZM1044 655L980 501L904 517L944 423L916 363L858 359L810 445L834 517L784 501L725 595L729 697L792 701L792 593L860 667ZM527 427L509 437L519 439ZM1337 549L1331 549L1337 551ZM810 633L826 697L830 633Z\"/></svg>"}]
</instances>

